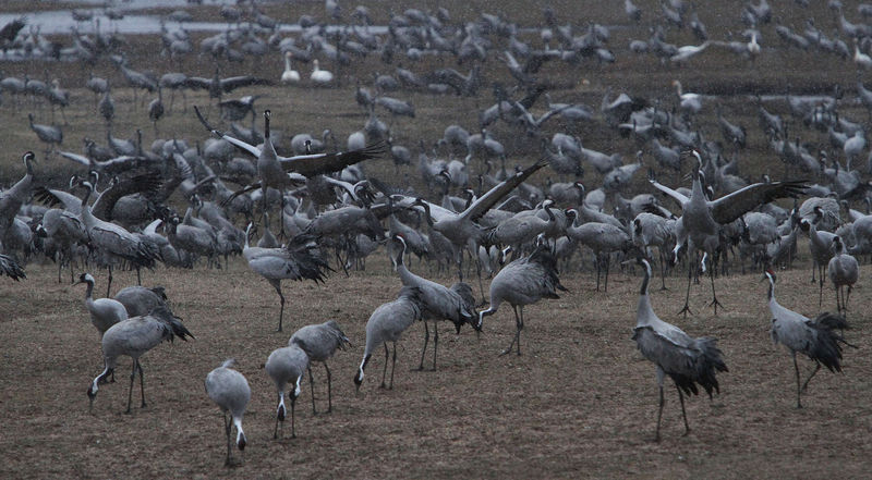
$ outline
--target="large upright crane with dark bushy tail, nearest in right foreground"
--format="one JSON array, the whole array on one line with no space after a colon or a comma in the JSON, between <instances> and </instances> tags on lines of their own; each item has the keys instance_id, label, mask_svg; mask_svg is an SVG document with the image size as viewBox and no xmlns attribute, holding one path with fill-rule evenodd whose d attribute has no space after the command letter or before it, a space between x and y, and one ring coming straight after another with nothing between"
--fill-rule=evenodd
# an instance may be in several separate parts
<instances>
[{"instance_id":1,"label":"large upright crane with dark bushy tail, nearest in right foreground","mask_svg":"<svg viewBox=\"0 0 872 480\"><path fill-rule=\"evenodd\" d=\"M720 393L716 374L726 372L727 365L720 358L717 340L706 336L692 337L678 327L661 320L651 308L649 282L651 281L651 263L643 258L638 262L644 267L645 276L639 293L639 307L635 313L635 328L632 340L642 355L657 366L657 385L659 387L659 408L657 410L656 441L661 440L661 417L663 416L663 379L669 376L678 391L681 403L681 417L685 420L685 434L690 432L688 416L685 411L685 395L698 395L697 384L705 390L708 398L712 391Z\"/></svg>"}]
</instances>

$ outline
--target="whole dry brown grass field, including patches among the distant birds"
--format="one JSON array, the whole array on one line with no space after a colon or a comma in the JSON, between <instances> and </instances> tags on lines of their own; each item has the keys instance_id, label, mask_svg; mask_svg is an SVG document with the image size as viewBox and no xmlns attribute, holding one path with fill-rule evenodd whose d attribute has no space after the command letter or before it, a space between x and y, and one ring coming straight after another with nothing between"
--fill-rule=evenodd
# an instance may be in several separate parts
<instances>
[{"instance_id":1,"label":"whole dry brown grass field, including patches among the distant birds","mask_svg":"<svg viewBox=\"0 0 872 480\"><path fill-rule=\"evenodd\" d=\"M371 3L371 4L370 4ZM393 2L391 2L393 3ZM393 4L395 11L407 8ZM646 9L642 25L628 25L621 2L552 2L558 23L584 26L589 21L613 28L609 47L618 61L600 65L583 61L567 66L552 63L543 75L561 82L567 88L552 91L553 101L584 102L596 111L607 87L614 93L629 91L664 106L675 103L670 82L681 79L687 90L717 94L726 90L759 94L792 91L829 93L840 84L852 91L856 82L850 61L834 56L819 56L787 49L773 32L764 27L765 47L755 64L728 53L711 51L685 67L662 65L651 57L633 56L627 50L629 39L646 39L647 26L658 11L657 2L637 1ZM609 7L614 3L615 5ZM741 2L700 7L700 17L710 36L725 38L727 30L741 27L738 10ZM734 4L735 3L735 4ZM775 2L773 2L775 3ZM792 2L785 2L792 5ZM388 7L368 2L374 21L384 24ZM445 4L455 21L474 19L482 11L502 8L506 16L521 25L537 25L541 7L525 2L494 3L417 2L416 7ZM53 5L53 3L51 4ZM61 4L62 5L62 4ZM614 8L613 8L614 7ZM3 11L46 9L44 3L10 1ZM711 11L708 9L712 9ZM293 5L268 3L265 12L291 21L302 13L322 15L323 2L294 2ZM351 10L349 7L347 9ZM156 9L155 14L169 10ZM197 20L218 20L217 8L191 7ZM847 10L846 10L847 11ZM851 12L853 13L853 12ZM782 22L801 28L808 16L815 16L820 27L831 28L832 14L825 5L811 10L779 11ZM656 14L658 16L658 14ZM678 45L695 42L687 30L671 32L669 40ZM197 34L195 38L202 38ZM210 60L192 54L184 64L171 63L155 54L159 40L153 37L126 37L124 50L132 66L155 73L182 70L189 75L211 76ZM64 40L69 41L69 40ZM415 64L416 71L436 65L458 67L451 60L427 59ZM282 64L278 54L261 61L227 65L225 75L257 73L278 78ZM408 66L408 65L407 65ZM416 118L399 122L397 141L410 147L419 138L432 143L450 123L474 128L477 111L491 106L489 82L509 81L506 69L495 59L486 63L487 85L476 98L433 97L420 93L400 93L416 108ZM307 69L307 67L306 67ZM334 89L261 87L240 95L265 94L257 107L270 108L272 123L284 134L310 132L318 135L332 128L340 141L359 130L364 118L353 102L354 81L372 82L372 74L388 69L377 59L359 62L343 74L342 86ZM392 66L389 67L392 70ZM105 143L101 119L94 112L93 97L84 88L90 69L77 64L45 62L3 62L3 75L60 78L73 99L66 111L62 149L81 152L82 138L95 137ZM303 67L300 69L304 71ZM94 67L118 86L113 89L117 120L113 134L132 136L142 128L146 145L156 137L146 110L133 102L117 70L104 59ZM304 71L305 72L305 71ZM586 79L588 82L583 82ZM166 94L166 93L165 93ZM613 95L615 95L613 94ZM845 116L861 121L867 113L846 95L840 104ZM231 95L230 97L235 97ZM756 108L746 96L718 98L725 113L748 126L749 147L741 153L742 172L749 176L772 173L779 176L782 162L771 152L766 138L756 126ZM168 102L165 97L165 102ZM187 104L208 104L205 93L189 94ZM665 107L666 108L666 107ZM787 116L784 102L767 108ZM14 107L10 98L0 106L0 185L21 177L24 168L21 152L41 151L43 146L27 127L26 113L33 107L22 100ZM542 109L542 110L540 110ZM207 111L217 115L213 106ZM536 108L537 114L544 108ZM47 109L36 109L37 121L49 122ZM387 114L383 115L387 121ZM57 116L58 123L61 118ZM258 119L259 121L259 119ZM718 137L714 109L700 116L701 128ZM258 123L259 124L259 123ZM174 110L159 124L157 137L185 138L190 143L207 135L193 111ZM799 126L797 131L799 131ZM494 128L500 138L511 138L514 131L500 125ZM619 151L631 159L637 145L620 138L597 121L580 133L584 145L603 151ZM803 140L823 144L825 133L803 131ZM512 145L511 164L528 163L537 155L537 144ZM646 160L647 161L647 160ZM652 161L653 162L653 161ZM593 169L590 169L593 170ZM416 169L408 176L396 176L389 159L372 161L370 174L411 184L422 190ZM72 163L39 155L37 183L62 185L73 172ZM541 172L535 181L557 180L553 172ZM643 175L638 175L643 185ZM588 172L585 183L600 177ZM647 190L645 190L647 192ZM182 200L173 198L178 205ZM797 268L778 273L776 296L794 310L813 316L816 285L809 283L807 239L800 245ZM586 258L586 257L585 257ZM578 266L578 257L576 266ZM130 360L124 357L117 370L117 382L101 386L88 411L85 394L90 380L102 370L98 335L89 323L84 306L84 285L70 285L69 272L57 282L57 267L45 261L26 266L27 279L12 282L0 279L0 409L3 433L0 435L0 478L864 478L869 471L872 443L872 345L867 306L872 304L869 267L861 267L859 286L851 296L848 320L852 329L846 337L859 349L845 352L844 372L821 371L803 396L804 408L795 408L795 379L789 354L773 346L766 308L766 284L760 273L732 274L716 280L718 297L726 306L713 317L704 305L711 298L707 280L691 291L693 315L687 319L676 312L681 306L685 276L667 279L669 291L652 285L655 311L689 334L718 339L718 346L729 372L718 376L720 394L710 402L704 396L687 402L691 432L683 436L677 393L666 381L663 440L654 442L657 411L657 386L654 366L645 360L630 340L635 324L640 276L613 268L608 293L594 292L590 261L583 271L573 267L561 272L569 288L560 299L543 300L525 310L522 333L523 355L499 357L514 333L511 309L506 305L484 321L484 332L476 337L464 328L460 335L448 324L440 324L438 369L410 371L417 366L423 341L423 325L416 324L398 343L393 390L378 383L384 356L378 350L367 367L360 394L352 378L363 355L365 324L372 311L396 297L400 281L379 250L367 261L365 271L350 276L332 273L324 285L283 282L288 298L283 333L275 332L278 299L272 288L252 272L241 258L231 259L229 268L192 270L158 267L144 272L143 284L162 285L173 311L184 319L196 336L190 342L164 344L143 357L148 406L138 408L138 386L134 408L124 415ZM411 266L413 271L441 283L452 276L439 276L427 266ZM736 269L734 269L736 270ZM78 272L76 271L76 274ZM106 271L93 271L95 292L105 293ZM135 283L133 272L116 273L120 288ZM116 290L116 288L113 288ZM477 294L477 285L475 286ZM834 309L831 290L825 291L824 309ZM276 394L263 369L269 353L287 344L298 328L337 320L353 346L330 360L334 373L334 411L313 416L310 385L296 406L296 439L272 440ZM432 343L431 343L432 345ZM244 464L228 469L222 466L225 436L221 414L204 392L208 371L228 357L238 360L238 369L252 387L252 401L244 420L249 445ZM427 353L427 366L431 361ZM800 359L803 372L812 364ZM326 376L322 366L314 368L318 410L326 409ZM289 427L286 426L286 433ZM234 455L239 451L234 450Z\"/></svg>"}]
</instances>

